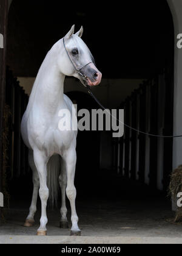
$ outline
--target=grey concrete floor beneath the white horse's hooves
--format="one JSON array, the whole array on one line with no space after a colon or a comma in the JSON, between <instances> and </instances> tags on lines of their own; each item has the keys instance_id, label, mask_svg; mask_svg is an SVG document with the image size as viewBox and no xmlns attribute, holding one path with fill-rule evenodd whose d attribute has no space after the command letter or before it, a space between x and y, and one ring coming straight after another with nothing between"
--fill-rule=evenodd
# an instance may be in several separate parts
<instances>
[{"instance_id":1,"label":"grey concrete floor beneath the white horse's hooves","mask_svg":"<svg viewBox=\"0 0 182 256\"><path fill-rule=\"evenodd\" d=\"M92 199L76 202L82 236L69 236L59 229L59 210L48 210L47 236L35 236L40 210L33 227L23 227L29 205L14 202L7 221L0 226L0 243L182 243L182 224L174 224L174 214L164 199L147 201ZM68 213L70 219L70 210Z\"/></svg>"}]
</instances>

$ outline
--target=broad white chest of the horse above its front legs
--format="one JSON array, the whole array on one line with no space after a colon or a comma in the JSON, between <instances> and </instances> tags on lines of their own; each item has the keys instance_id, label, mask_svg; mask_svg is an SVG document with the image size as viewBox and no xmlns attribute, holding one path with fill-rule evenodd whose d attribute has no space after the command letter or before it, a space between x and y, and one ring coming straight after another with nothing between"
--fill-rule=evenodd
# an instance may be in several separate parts
<instances>
[{"instance_id":1,"label":"broad white chest of the horse above its front legs","mask_svg":"<svg viewBox=\"0 0 182 256\"><path fill-rule=\"evenodd\" d=\"M59 112L53 115L47 111L33 112L28 123L29 141L32 148L36 145L39 149L48 152L49 155L62 154L72 143L75 143L76 132L72 129L62 130L59 127L59 124L72 124L75 118L72 115L68 115L66 118L64 116Z\"/></svg>"}]
</instances>

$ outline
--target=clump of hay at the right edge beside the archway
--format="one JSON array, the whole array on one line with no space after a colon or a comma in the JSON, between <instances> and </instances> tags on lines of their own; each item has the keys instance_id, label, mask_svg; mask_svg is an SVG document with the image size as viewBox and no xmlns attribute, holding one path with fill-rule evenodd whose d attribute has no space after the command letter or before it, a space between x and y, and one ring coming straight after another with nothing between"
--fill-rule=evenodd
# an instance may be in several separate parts
<instances>
[{"instance_id":1,"label":"clump of hay at the right edge beside the archway","mask_svg":"<svg viewBox=\"0 0 182 256\"><path fill-rule=\"evenodd\" d=\"M173 200L182 192L182 165L178 166L170 175L169 195ZM182 222L182 207L177 207L174 222Z\"/></svg>"}]
</instances>

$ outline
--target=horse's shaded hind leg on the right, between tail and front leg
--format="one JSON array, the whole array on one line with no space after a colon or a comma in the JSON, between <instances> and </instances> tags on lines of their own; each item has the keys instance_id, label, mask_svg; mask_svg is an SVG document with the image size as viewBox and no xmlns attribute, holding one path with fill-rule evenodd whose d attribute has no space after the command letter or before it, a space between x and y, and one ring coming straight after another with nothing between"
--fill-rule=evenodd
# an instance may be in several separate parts
<instances>
[{"instance_id":1,"label":"horse's shaded hind leg on the right, between tail and front leg","mask_svg":"<svg viewBox=\"0 0 182 256\"><path fill-rule=\"evenodd\" d=\"M60 227L62 229L68 229L67 221L67 208L66 208L66 186L67 186L67 174L66 165L63 159L61 159L61 174L59 176L59 185L61 188L61 221Z\"/></svg>"}]
</instances>

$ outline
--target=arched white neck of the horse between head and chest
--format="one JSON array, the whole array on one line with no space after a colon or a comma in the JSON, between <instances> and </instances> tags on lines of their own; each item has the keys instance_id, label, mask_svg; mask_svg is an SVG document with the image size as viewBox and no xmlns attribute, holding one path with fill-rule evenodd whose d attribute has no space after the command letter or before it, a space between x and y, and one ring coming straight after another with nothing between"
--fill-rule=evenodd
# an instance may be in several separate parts
<instances>
[{"instance_id":1,"label":"arched white neck of the horse between head and chest","mask_svg":"<svg viewBox=\"0 0 182 256\"><path fill-rule=\"evenodd\" d=\"M64 79L65 75L60 73L55 63L56 52L50 50L39 69L27 111L33 105L39 110L54 113L56 108L64 101Z\"/></svg>"}]
</instances>

